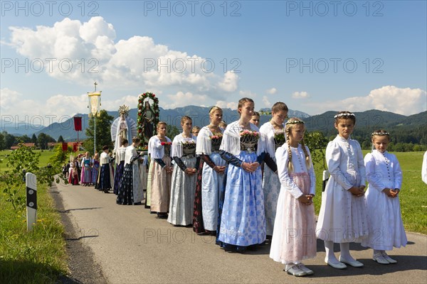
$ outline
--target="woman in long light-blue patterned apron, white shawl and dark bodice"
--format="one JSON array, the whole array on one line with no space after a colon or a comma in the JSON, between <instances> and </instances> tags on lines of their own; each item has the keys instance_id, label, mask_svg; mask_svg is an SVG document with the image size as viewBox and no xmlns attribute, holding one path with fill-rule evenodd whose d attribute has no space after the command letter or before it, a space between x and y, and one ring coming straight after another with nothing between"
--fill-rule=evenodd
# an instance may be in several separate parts
<instances>
[{"instance_id":1,"label":"woman in long light-blue patterned apron, white shawl and dark bodice","mask_svg":"<svg viewBox=\"0 0 427 284\"><path fill-rule=\"evenodd\" d=\"M260 169L265 153L258 127L249 122L253 109L252 99L238 102L241 118L227 126L220 147L228 169L217 243L226 251L244 251L265 241Z\"/></svg>"}]
</instances>

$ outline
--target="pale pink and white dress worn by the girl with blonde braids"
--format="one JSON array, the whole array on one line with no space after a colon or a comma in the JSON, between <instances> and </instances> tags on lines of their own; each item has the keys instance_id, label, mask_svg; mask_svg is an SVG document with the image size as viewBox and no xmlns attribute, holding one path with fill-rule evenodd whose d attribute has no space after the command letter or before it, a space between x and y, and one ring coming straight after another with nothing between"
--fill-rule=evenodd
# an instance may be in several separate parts
<instances>
[{"instance_id":1,"label":"pale pink and white dress worn by the girl with blonde braids","mask_svg":"<svg viewBox=\"0 0 427 284\"><path fill-rule=\"evenodd\" d=\"M307 153L310 151L306 147ZM315 195L315 171L307 169L302 146L290 147L294 171L288 170L288 143L278 148L278 177L280 194L275 215L270 258L281 263L295 263L316 256L315 207L302 204L302 195ZM311 160L311 159L310 159Z\"/></svg>"}]
</instances>

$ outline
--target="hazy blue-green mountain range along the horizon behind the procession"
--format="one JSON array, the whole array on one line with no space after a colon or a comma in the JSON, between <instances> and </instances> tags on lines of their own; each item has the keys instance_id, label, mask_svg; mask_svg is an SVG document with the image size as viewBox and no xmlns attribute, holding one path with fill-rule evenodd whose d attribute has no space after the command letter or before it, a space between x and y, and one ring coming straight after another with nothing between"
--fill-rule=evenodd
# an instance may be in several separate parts
<instances>
[{"instance_id":1,"label":"hazy blue-green mountain range along the horizon behind the procession","mask_svg":"<svg viewBox=\"0 0 427 284\"><path fill-rule=\"evenodd\" d=\"M261 111L270 111L270 109L260 109ZM160 120L166 121L169 125L174 125L181 129L180 120L184 115L188 115L193 119L194 126L204 126L209 124L209 107L187 106L178 107L176 109L162 109L160 111ZM307 131L322 131L325 136L336 134L334 129L334 115L338 111L327 111L324 114L310 116L302 111L292 110L288 111L288 116L296 116L305 121ZM110 116L117 118L118 111L107 111ZM357 117L357 129L364 129L365 131L373 131L374 129L394 129L405 128L407 130L421 127L424 132L427 132L426 121L427 111L411 116L404 116L401 114L394 114L389 111L369 110L362 112L355 112ZM79 114L82 116L83 131L79 131L79 139L86 138L85 129L88 127L88 114ZM130 118L137 121L137 109L130 109ZM270 119L270 115L261 115L260 125L264 124ZM236 110L223 109L223 120L227 123L236 121L238 113ZM77 132L74 131L73 117L61 123L54 122L49 126L43 127L35 124L18 124L14 125L10 121L1 121L1 131L6 131L15 136L27 135L32 136L33 133L38 136L39 133L46 133L49 136L58 139L63 136L65 141L75 141Z\"/></svg>"}]
</instances>

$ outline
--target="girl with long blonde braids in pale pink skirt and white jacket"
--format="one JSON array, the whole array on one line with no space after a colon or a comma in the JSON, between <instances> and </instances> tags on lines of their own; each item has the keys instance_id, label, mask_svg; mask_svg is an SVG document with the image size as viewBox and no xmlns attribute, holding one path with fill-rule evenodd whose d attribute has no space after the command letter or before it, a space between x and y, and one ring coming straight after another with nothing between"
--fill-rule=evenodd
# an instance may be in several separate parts
<instances>
[{"instance_id":1,"label":"girl with long blonde braids in pale pink skirt and white jacket","mask_svg":"<svg viewBox=\"0 0 427 284\"><path fill-rule=\"evenodd\" d=\"M295 276L313 271L302 260L316 256L315 196L316 180L310 151L305 146L304 121L292 118L286 122L288 142L278 148L280 195L275 216L270 258L284 263L285 271Z\"/></svg>"}]
</instances>

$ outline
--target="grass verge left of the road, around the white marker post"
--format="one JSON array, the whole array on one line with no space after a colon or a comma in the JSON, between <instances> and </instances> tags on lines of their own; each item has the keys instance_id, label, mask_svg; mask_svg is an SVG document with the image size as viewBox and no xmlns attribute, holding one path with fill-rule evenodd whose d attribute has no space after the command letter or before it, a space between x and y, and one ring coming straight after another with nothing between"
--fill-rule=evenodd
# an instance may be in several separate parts
<instances>
[{"instance_id":1,"label":"grass verge left of the road, around the white marker post","mask_svg":"<svg viewBox=\"0 0 427 284\"><path fill-rule=\"evenodd\" d=\"M0 151L4 159L11 151ZM39 165L48 163L51 151L41 152ZM0 170L7 170L6 160ZM37 222L26 231L26 207L15 210L6 201L0 181L0 283L57 283L58 275L68 271L63 224L56 212L47 185L38 185ZM19 195L25 197L25 186Z\"/></svg>"}]
</instances>

